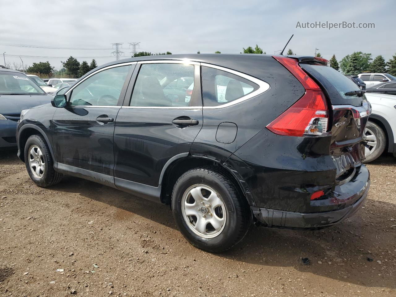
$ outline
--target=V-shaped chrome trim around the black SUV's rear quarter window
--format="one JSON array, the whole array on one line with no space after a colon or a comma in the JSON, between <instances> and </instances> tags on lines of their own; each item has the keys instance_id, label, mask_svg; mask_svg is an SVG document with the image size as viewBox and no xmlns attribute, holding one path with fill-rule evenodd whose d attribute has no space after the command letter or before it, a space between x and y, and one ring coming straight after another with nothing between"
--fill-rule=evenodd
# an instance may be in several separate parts
<instances>
[{"instance_id":1,"label":"V-shaped chrome trim around the black SUV's rear quarter window","mask_svg":"<svg viewBox=\"0 0 396 297\"><path fill-rule=\"evenodd\" d=\"M242 72L239 72L239 71L236 71L236 70L233 70L233 69L229 69L229 68L225 68L225 67L221 67L221 66L217 66L217 65L213 65L213 64L208 64L208 63L201 63L201 66L210 67L210 68L214 68L214 69L219 69L219 70L222 70L224 72L228 72L228 73L234 74L236 76L240 76L240 77L245 78L246 80L249 80L249 81L251 81L251 82L253 82L253 83L255 83L255 84L257 84L259 86L259 88L257 90L255 90L255 91L253 91L253 92L251 92L249 94L246 94L245 96L240 97L239 99L236 99L234 101L231 101L229 103L225 103L225 104L222 104L222 105L204 106L203 109L219 109L219 108L229 107L231 105L235 105L235 104L241 103L241 102L243 102L243 101L245 101L247 99L250 99L250 98L253 98L253 97L257 96L257 95L260 95L260 94L262 94L262 93L264 93L264 92L266 92L266 91L268 91L270 89L270 85L267 82L265 82L263 80L259 80L258 78L255 78L253 76L244 74Z\"/></svg>"}]
</instances>

